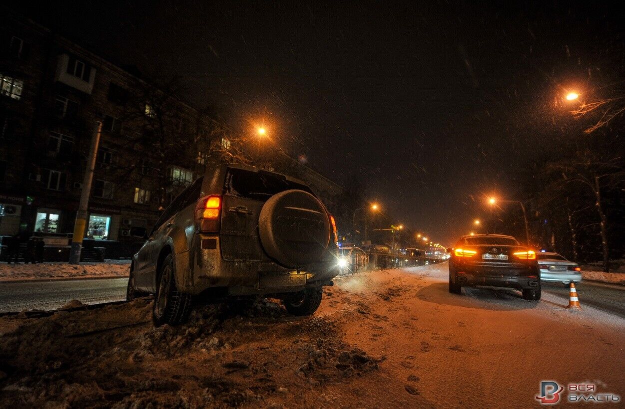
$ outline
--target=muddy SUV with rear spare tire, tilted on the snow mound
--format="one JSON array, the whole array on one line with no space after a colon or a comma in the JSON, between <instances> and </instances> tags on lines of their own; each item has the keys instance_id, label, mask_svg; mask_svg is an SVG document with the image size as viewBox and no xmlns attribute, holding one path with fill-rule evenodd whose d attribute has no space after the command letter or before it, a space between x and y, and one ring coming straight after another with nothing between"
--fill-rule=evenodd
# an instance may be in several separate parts
<instances>
[{"instance_id":1,"label":"muddy SUV with rear spare tire, tilted on the snow mound","mask_svg":"<svg viewBox=\"0 0 625 409\"><path fill-rule=\"evenodd\" d=\"M126 298L153 293L155 325L192 301L280 298L310 315L338 273L334 218L301 180L244 165L207 170L173 200L134 255Z\"/></svg>"}]
</instances>

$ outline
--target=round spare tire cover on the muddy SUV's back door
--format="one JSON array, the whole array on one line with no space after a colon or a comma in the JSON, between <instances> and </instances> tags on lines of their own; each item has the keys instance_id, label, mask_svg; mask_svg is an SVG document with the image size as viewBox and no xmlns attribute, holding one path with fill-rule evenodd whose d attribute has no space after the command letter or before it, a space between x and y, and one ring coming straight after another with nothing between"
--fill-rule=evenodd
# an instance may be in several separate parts
<instances>
[{"instance_id":1,"label":"round spare tire cover on the muddy SUV's back door","mask_svg":"<svg viewBox=\"0 0 625 409\"><path fill-rule=\"evenodd\" d=\"M262 206L258 230L269 257L286 267L321 260L330 241L330 221L316 197L284 190Z\"/></svg>"}]
</instances>

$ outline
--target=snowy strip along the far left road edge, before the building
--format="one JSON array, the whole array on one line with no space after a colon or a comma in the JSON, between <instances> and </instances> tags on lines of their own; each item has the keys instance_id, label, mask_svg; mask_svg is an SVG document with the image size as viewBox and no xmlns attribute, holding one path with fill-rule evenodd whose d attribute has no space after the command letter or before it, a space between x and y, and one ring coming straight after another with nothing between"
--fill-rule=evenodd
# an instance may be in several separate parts
<instances>
[{"instance_id":1,"label":"snowy strip along the far left road edge, before the building","mask_svg":"<svg viewBox=\"0 0 625 409\"><path fill-rule=\"evenodd\" d=\"M0 264L0 282L21 280L46 280L54 278L128 277L130 261L105 263L39 263Z\"/></svg>"}]
</instances>

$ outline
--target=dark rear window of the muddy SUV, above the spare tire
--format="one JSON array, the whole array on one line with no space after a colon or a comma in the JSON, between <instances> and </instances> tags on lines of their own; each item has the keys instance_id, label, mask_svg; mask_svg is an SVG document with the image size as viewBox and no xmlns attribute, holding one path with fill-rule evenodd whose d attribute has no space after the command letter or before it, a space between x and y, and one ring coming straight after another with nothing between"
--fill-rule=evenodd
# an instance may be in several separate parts
<instances>
[{"instance_id":1,"label":"dark rear window of the muddy SUV, above the spare tire","mask_svg":"<svg viewBox=\"0 0 625 409\"><path fill-rule=\"evenodd\" d=\"M299 189L312 194L309 187L287 180L283 175L264 170L252 172L244 169L228 169L224 194L247 199L267 200L284 190Z\"/></svg>"}]
</instances>

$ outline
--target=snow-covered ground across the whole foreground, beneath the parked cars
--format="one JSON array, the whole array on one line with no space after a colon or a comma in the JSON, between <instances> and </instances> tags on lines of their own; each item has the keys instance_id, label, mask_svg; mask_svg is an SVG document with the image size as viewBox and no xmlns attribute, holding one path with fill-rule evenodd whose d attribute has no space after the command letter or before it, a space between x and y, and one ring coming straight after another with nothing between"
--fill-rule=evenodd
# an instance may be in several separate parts
<instances>
[{"instance_id":1,"label":"snow-covered ground across the whole foreground, beneath the parked cars","mask_svg":"<svg viewBox=\"0 0 625 409\"><path fill-rule=\"evenodd\" d=\"M566 305L450 294L439 264L338 278L312 317L273 300L175 328L149 300L0 317L0 406L529 407L541 380L622 397L625 320Z\"/></svg>"}]
</instances>

